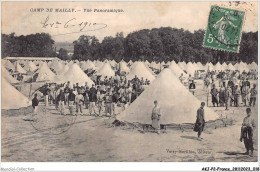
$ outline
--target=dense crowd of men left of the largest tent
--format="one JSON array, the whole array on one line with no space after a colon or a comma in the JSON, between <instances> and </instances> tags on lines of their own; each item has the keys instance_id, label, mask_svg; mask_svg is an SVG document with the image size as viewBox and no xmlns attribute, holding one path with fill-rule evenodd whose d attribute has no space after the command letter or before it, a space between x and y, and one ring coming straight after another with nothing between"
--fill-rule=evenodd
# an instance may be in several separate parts
<instances>
[{"instance_id":1,"label":"dense crowd of men left of the largest tent","mask_svg":"<svg viewBox=\"0 0 260 172\"><path fill-rule=\"evenodd\" d=\"M65 114L68 107L71 115L83 114L83 109L88 109L90 115L112 116L115 115L116 106L126 108L149 84L148 80L137 76L127 81L116 75L97 79L90 88L88 83L79 86L68 81L65 84L46 84L40 91L45 97L45 104L55 104L61 114Z\"/></svg>"}]
</instances>

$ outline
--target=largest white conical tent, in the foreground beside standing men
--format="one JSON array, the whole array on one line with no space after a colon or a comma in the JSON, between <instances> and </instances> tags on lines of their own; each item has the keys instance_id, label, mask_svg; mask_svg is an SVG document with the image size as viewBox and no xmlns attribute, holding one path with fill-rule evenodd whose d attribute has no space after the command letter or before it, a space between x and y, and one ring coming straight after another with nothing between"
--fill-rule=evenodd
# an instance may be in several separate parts
<instances>
[{"instance_id":1,"label":"largest white conical tent, in the foreground beside standing men","mask_svg":"<svg viewBox=\"0 0 260 172\"><path fill-rule=\"evenodd\" d=\"M195 123L197 109L201 104L172 71L166 68L125 111L117 116L117 119L130 123L151 123L154 100L158 101L158 106L161 108L161 124ZM204 109L206 121L219 117L210 108Z\"/></svg>"}]
</instances>

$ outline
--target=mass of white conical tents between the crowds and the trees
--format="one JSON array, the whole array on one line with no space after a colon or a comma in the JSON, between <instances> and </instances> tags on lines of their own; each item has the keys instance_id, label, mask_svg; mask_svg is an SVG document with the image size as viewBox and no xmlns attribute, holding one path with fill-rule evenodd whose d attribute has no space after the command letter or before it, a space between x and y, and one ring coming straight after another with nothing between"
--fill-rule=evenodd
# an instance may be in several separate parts
<instances>
[{"instance_id":1,"label":"mass of white conical tents between the crowds and the trees","mask_svg":"<svg viewBox=\"0 0 260 172\"><path fill-rule=\"evenodd\" d=\"M20 62L21 63L21 62ZM25 61L23 63L24 67L21 67L20 63L16 61L14 64L10 61L6 60L2 63L2 73L7 81L10 83L17 83L18 81L13 78L8 70L12 69L13 71L21 74L31 73L33 76L30 78L34 78L35 81L49 81L56 83L65 83L70 81L71 84L79 83L80 85L84 85L86 82L91 86L93 81L89 78L87 74L84 72L86 70L95 70L94 76L101 76L101 79L105 77L110 78L115 76L115 69L119 69L120 72L124 72L126 74L127 80L133 79L135 76L138 78L148 79L153 81L155 79L155 74L153 70L146 65L147 62L136 61L132 64L127 64L124 61L118 63L119 67L116 67L117 63L112 63L111 61L70 61L65 62L62 60L54 60L50 63L40 62L37 65L32 61ZM231 63L228 65L217 63L213 65L212 63L208 63L207 65L202 65L201 63L176 63L172 61L168 64L168 67L173 71L173 73L179 77L181 74L184 77L188 77L188 75L194 76L194 72L197 70L239 70L240 72L246 71L249 69L257 69L256 63L251 63L249 65L241 62L236 65L232 65ZM162 68L163 69L163 68ZM185 72L184 72L185 71ZM27 76L25 75L25 79L27 80Z\"/></svg>"}]
</instances>

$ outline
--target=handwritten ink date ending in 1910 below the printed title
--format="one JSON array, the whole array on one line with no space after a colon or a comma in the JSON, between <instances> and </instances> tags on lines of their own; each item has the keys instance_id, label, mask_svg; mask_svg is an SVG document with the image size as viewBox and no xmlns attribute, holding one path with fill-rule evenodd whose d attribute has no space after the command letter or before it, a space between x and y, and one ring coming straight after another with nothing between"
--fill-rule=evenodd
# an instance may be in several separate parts
<instances>
[{"instance_id":1,"label":"handwritten ink date ending in 1910 below the printed title","mask_svg":"<svg viewBox=\"0 0 260 172\"><path fill-rule=\"evenodd\" d=\"M88 21L78 21L76 18L69 19L66 22L60 22L60 21L51 22L49 16L47 16L46 19L43 22L41 22L41 25L42 28L65 28L65 29L75 28L76 32L95 31L107 27L107 24L105 23L92 23ZM72 33L76 33L76 32L72 32Z\"/></svg>"}]
</instances>

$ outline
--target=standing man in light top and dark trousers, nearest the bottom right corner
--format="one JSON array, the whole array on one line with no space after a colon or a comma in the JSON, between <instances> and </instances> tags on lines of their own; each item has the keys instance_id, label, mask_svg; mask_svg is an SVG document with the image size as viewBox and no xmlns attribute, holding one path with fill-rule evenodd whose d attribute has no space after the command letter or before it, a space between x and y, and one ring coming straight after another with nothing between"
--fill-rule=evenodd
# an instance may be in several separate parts
<instances>
[{"instance_id":1,"label":"standing man in light top and dark trousers, nearest the bottom right corner","mask_svg":"<svg viewBox=\"0 0 260 172\"><path fill-rule=\"evenodd\" d=\"M240 141L244 139L244 144L246 148L246 155L253 156L254 146L253 146L253 132L255 129L255 120L251 116L251 109L246 109L247 116L244 118L241 127ZM250 152L249 152L250 151Z\"/></svg>"}]
</instances>

